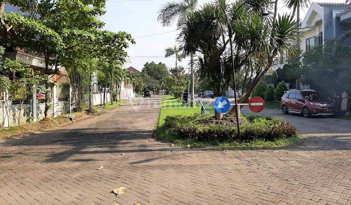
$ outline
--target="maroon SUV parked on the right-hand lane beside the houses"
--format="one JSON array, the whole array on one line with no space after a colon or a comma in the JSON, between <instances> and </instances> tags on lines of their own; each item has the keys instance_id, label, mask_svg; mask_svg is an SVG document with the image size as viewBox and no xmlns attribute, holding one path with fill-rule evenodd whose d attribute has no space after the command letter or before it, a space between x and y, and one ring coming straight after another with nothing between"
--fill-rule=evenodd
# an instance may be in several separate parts
<instances>
[{"instance_id":1,"label":"maroon SUV parked on the right-hand lane beside the houses","mask_svg":"<svg viewBox=\"0 0 351 205\"><path fill-rule=\"evenodd\" d=\"M305 118L335 115L334 105L322 100L314 90L289 90L281 98L280 105L283 114L301 113Z\"/></svg>"}]
</instances>

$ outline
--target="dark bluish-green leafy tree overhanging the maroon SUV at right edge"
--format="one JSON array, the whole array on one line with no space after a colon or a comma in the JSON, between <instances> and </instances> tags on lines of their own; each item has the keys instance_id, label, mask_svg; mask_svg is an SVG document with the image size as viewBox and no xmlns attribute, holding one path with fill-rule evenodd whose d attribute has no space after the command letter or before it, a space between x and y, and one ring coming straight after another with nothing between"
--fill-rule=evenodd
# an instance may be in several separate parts
<instances>
[{"instance_id":1,"label":"dark bluish-green leafy tree overhanging the maroon SUV at right edge","mask_svg":"<svg viewBox=\"0 0 351 205\"><path fill-rule=\"evenodd\" d=\"M343 92L351 93L351 48L339 40L326 41L302 56L302 83L335 102L341 109Z\"/></svg>"}]
</instances>

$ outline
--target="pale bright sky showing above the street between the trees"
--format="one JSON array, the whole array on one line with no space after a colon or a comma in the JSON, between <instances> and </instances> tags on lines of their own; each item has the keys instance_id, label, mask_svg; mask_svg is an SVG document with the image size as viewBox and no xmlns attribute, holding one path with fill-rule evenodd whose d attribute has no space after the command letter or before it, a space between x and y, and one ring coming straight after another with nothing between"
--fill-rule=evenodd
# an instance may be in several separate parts
<instances>
[{"instance_id":1,"label":"pale bright sky showing above the street between the trees","mask_svg":"<svg viewBox=\"0 0 351 205\"><path fill-rule=\"evenodd\" d=\"M157 12L168 0L107 0L106 14L101 20L106 23L105 29L109 31L126 31L135 39L136 44L128 49L131 63L124 66L133 66L141 70L146 62L163 62L168 67L175 67L175 57L164 58L164 50L176 44L178 32L176 26L162 27L157 21ZM199 5L213 0L199 0ZM279 13L290 12L283 4L284 0L278 1ZM345 0L312 0L312 2L345 2ZM305 16L308 8L301 11L301 18ZM160 35L155 35L160 34ZM189 58L178 62L184 68L188 68ZM188 71L188 70L187 70Z\"/></svg>"}]
</instances>

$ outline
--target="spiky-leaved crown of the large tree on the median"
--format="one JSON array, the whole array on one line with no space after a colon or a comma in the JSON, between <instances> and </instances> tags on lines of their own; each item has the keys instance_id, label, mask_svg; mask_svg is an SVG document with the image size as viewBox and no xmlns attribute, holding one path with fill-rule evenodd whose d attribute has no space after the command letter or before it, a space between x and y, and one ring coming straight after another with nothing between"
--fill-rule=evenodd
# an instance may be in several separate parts
<instances>
[{"instance_id":1,"label":"spiky-leaved crown of the large tree on the median","mask_svg":"<svg viewBox=\"0 0 351 205\"><path fill-rule=\"evenodd\" d=\"M242 82L247 85L239 99L239 103L243 103L271 69L273 59L278 53L285 56L296 52L299 29L292 16L287 14L279 15L277 19L261 19L258 6L254 3L239 8L242 1L217 2L226 8L229 22L233 22L230 35L234 37L235 72L244 73L245 80ZM267 10L273 7L272 1L259 2ZM227 29L223 11L215 3L207 3L201 9L188 14L179 29L178 41L185 54L198 52L203 56L196 65L200 78L209 81L215 93L224 92L232 82L233 69L232 57L228 52L229 41L225 38L230 31Z\"/></svg>"}]
</instances>

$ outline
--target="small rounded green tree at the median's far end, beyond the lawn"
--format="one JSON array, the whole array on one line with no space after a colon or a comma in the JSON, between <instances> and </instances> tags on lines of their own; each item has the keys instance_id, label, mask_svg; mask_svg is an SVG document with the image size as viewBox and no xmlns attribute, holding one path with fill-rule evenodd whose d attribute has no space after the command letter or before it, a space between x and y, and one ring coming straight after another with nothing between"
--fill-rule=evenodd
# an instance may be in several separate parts
<instances>
[{"instance_id":1,"label":"small rounded green tree at the median's far end, beyond the lawn","mask_svg":"<svg viewBox=\"0 0 351 205\"><path fill-rule=\"evenodd\" d=\"M175 98L181 98L188 86L188 79L183 67L176 67L170 70L171 76L166 78L167 90L173 92Z\"/></svg>"}]
</instances>

